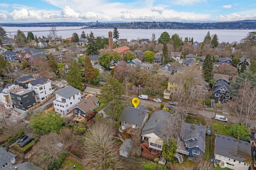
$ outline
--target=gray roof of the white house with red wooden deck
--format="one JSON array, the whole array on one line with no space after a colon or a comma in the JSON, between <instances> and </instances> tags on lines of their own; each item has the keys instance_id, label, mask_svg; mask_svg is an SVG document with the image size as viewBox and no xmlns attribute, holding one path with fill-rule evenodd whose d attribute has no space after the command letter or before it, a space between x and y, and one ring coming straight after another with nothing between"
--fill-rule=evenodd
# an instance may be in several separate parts
<instances>
[{"instance_id":1,"label":"gray roof of the white house with red wooden deck","mask_svg":"<svg viewBox=\"0 0 256 170\"><path fill-rule=\"evenodd\" d=\"M166 111L166 110L160 110L152 113L149 120L147 121L146 125L142 129L142 134L150 134L154 133L159 138L164 138L164 132L162 130L165 130L166 125L168 124L168 120L172 119L172 115ZM157 119L157 121L156 121ZM171 129L170 129L171 130Z\"/></svg>"}]
</instances>

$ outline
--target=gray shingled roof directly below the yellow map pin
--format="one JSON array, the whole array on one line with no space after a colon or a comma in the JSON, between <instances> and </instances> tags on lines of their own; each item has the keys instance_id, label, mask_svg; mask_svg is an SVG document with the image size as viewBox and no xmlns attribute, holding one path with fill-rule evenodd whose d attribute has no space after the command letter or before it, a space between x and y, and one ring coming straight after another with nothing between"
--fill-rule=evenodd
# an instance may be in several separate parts
<instances>
[{"instance_id":1,"label":"gray shingled roof directly below the yellow map pin","mask_svg":"<svg viewBox=\"0 0 256 170\"><path fill-rule=\"evenodd\" d=\"M121 120L124 122L142 126L147 112L150 111L144 109L136 109L134 107L125 107L121 116Z\"/></svg>"}]
</instances>

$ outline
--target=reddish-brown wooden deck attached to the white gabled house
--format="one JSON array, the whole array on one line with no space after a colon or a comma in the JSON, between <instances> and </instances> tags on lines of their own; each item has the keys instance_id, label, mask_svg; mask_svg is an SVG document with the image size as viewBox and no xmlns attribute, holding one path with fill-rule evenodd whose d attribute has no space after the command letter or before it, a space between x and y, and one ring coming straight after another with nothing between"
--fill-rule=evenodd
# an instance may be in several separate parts
<instances>
[{"instance_id":1,"label":"reddish-brown wooden deck attached to the white gabled house","mask_svg":"<svg viewBox=\"0 0 256 170\"><path fill-rule=\"evenodd\" d=\"M142 149L143 149L141 156L144 156L151 160L154 160L154 158L160 157L161 150L150 148L149 142L141 140L140 147L142 147Z\"/></svg>"}]
</instances>

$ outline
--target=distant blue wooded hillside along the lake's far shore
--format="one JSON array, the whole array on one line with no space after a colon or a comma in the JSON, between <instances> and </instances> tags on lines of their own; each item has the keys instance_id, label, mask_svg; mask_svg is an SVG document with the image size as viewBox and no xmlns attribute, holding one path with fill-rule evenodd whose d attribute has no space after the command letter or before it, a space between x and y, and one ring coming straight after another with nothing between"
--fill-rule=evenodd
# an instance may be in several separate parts
<instances>
[{"instance_id":1,"label":"distant blue wooded hillside along the lake's far shore","mask_svg":"<svg viewBox=\"0 0 256 170\"><path fill-rule=\"evenodd\" d=\"M254 30L256 20L241 20L232 22L214 23L182 23L182 22L42 22L42 23L0 23L6 27L71 27L81 26L85 28L113 29L182 29L182 30Z\"/></svg>"}]
</instances>

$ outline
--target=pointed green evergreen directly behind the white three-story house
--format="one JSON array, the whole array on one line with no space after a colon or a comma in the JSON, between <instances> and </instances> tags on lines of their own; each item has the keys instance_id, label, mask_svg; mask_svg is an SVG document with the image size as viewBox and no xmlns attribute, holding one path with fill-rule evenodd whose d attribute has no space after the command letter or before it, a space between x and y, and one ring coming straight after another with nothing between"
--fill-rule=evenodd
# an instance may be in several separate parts
<instances>
[{"instance_id":1,"label":"pointed green evergreen directly behind the white three-story house","mask_svg":"<svg viewBox=\"0 0 256 170\"><path fill-rule=\"evenodd\" d=\"M70 85L78 90L81 90L81 91L83 90L82 76L80 73L79 65L76 62L76 60L73 60L71 62L71 68L68 71L67 81L68 81L68 85Z\"/></svg>"}]
</instances>

